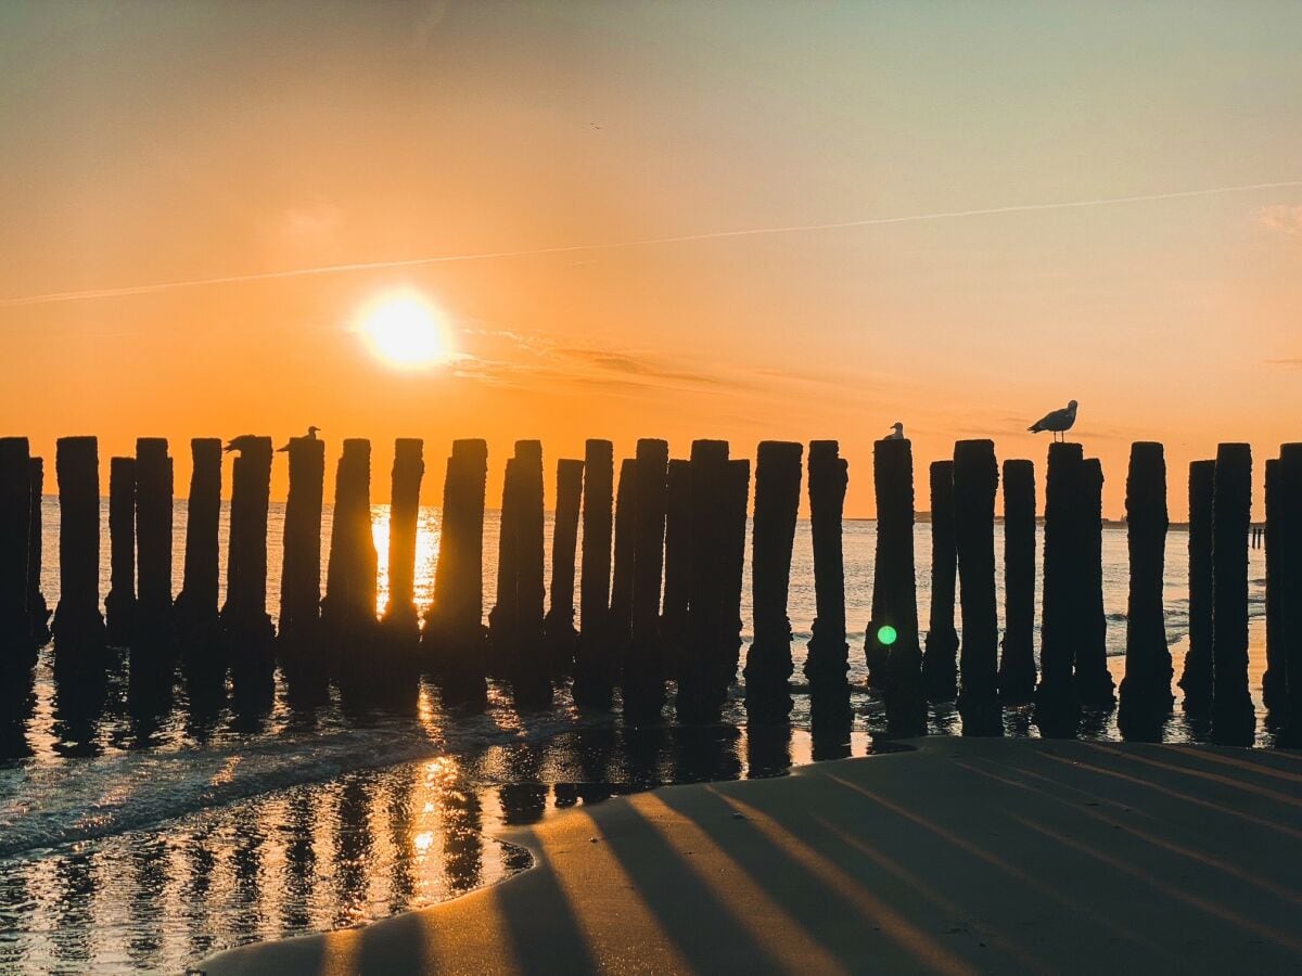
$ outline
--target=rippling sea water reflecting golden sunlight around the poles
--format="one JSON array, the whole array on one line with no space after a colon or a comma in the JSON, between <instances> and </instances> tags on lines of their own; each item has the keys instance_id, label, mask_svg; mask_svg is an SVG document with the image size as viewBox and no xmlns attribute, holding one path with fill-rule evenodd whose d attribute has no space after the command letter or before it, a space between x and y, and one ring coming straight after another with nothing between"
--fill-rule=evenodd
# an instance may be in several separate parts
<instances>
[{"instance_id":1,"label":"rippling sea water reflecting golden sunlight around the poles","mask_svg":"<svg viewBox=\"0 0 1302 976\"><path fill-rule=\"evenodd\" d=\"M387 506L375 506L380 608L387 600ZM270 528L268 608L279 605L283 506ZM329 510L323 540L329 537ZM44 501L43 590L57 601L57 502ZM107 505L102 588L108 591ZM484 605L493 601L497 513L484 532ZM223 540L227 523L223 518ZM996 526L996 553L1003 552ZM174 588L180 587L185 504L177 505ZM548 544L551 521L547 526ZM423 509L417 601L431 599L439 513ZM866 669L862 630L872 587L875 526L845 523L850 678ZM915 534L923 629L930 603L930 532ZM324 545L324 541L323 541ZM1167 544L1167 630L1177 658L1187 635L1187 535ZM223 541L223 550L224 550ZM1120 677L1126 605L1124 526L1104 530L1108 653ZM997 562L1001 562L997 561ZM324 553L323 553L324 565ZM1250 613L1264 609L1260 550L1250 553ZM224 576L224 569L223 569ZM743 639L749 640L749 567ZM999 580L1003 600L1003 579ZM797 528L789 612L797 681L814 617L809 523ZM1254 642L1259 657L1260 642ZM1254 661L1254 673L1260 661ZM1177 664L1178 673L1178 664ZM1256 685L1256 682L1254 682ZM1254 687L1259 695L1259 687ZM87 708L56 686L48 649L35 671L30 717L0 760L0 971L184 969L203 955L250 941L359 924L431 904L529 865L527 851L488 839L577 803L667 782L780 776L823 755L865 755L881 724L872 696L853 696L849 743L818 743L809 698L794 696L792 727L747 729L734 688L715 726L633 730L617 716L581 716L568 692L521 714L509 688L493 687L480 714L443 709L422 687L405 713L355 712L341 701L296 709L277 685L260 716L198 713L178 691L161 716L133 713L125 664L102 701ZM73 707L76 704L76 707ZM958 729L944 707L934 729ZM1034 734L1026 716L1010 731ZM1116 738L1098 716L1082 734ZM1176 718L1172 739L1197 730ZM1263 730L1264 740L1266 733Z\"/></svg>"}]
</instances>

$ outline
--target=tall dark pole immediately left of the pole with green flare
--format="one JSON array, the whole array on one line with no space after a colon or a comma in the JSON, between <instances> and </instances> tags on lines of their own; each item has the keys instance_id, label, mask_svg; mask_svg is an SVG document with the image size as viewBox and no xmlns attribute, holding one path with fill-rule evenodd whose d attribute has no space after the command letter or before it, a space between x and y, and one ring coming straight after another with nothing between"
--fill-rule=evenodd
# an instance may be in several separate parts
<instances>
[{"instance_id":1,"label":"tall dark pole immediately left of the pole with green flare","mask_svg":"<svg viewBox=\"0 0 1302 976\"><path fill-rule=\"evenodd\" d=\"M850 645L845 640L845 561L841 515L849 466L836 441L810 441L810 534L814 537L815 617L805 677L810 691L840 695L848 690ZM838 703L840 704L840 703ZM845 704L849 709L849 701Z\"/></svg>"}]
</instances>

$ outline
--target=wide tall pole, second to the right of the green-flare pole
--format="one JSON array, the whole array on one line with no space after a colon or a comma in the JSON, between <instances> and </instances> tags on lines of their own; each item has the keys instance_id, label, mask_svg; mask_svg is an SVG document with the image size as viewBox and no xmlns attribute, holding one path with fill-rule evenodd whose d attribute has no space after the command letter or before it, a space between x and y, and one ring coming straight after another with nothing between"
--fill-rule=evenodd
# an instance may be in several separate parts
<instances>
[{"instance_id":1,"label":"wide tall pole, second to the right of the green-flare pole","mask_svg":"<svg viewBox=\"0 0 1302 976\"><path fill-rule=\"evenodd\" d=\"M958 661L958 712L965 735L1001 735L999 610L995 599L995 442L954 445L954 543L963 647Z\"/></svg>"}]
</instances>

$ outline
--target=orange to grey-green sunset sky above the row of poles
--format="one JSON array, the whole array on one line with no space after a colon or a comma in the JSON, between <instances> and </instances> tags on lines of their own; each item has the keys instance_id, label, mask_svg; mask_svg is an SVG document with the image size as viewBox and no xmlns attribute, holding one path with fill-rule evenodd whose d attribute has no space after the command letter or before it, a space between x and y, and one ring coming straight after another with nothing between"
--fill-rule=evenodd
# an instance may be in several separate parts
<instances>
[{"instance_id":1,"label":"orange to grey-green sunset sky above the row of poles","mask_svg":"<svg viewBox=\"0 0 1302 976\"><path fill-rule=\"evenodd\" d=\"M1302 5L0 5L0 433L1302 440ZM1245 189L1246 187L1246 189ZM1073 204L1073 206L1046 206ZM437 259L437 260L424 260ZM344 267L341 267L344 265ZM283 273L310 272L310 273ZM454 354L358 334L395 291ZM277 466L273 492L284 495ZM551 478L548 478L551 480ZM107 479L105 479L107 485ZM551 485L548 488L551 493ZM1254 511L1260 518L1260 492Z\"/></svg>"}]
</instances>

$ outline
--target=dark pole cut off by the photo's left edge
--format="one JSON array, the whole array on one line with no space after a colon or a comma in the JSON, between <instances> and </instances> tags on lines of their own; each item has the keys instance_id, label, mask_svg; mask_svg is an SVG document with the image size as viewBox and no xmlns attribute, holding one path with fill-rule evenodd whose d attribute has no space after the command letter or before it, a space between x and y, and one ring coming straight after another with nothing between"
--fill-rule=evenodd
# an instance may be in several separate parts
<instances>
[{"instance_id":1,"label":"dark pole cut off by the photo's left edge","mask_svg":"<svg viewBox=\"0 0 1302 976\"><path fill-rule=\"evenodd\" d=\"M27 547L31 531L31 457L26 437L0 437L0 669L31 657Z\"/></svg>"}]
</instances>

